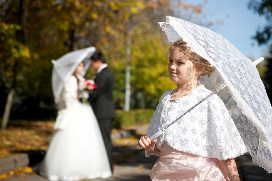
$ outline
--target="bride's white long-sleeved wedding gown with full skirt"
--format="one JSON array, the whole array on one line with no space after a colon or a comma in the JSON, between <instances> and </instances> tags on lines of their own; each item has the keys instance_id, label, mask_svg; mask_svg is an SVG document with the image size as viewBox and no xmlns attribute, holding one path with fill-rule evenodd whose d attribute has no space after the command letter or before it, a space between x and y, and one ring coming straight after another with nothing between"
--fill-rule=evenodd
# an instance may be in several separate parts
<instances>
[{"instance_id":1,"label":"bride's white long-sleeved wedding gown with full skirt","mask_svg":"<svg viewBox=\"0 0 272 181\"><path fill-rule=\"evenodd\" d=\"M60 96L55 131L40 170L51 181L112 175L96 117L89 104L77 100L77 90L77 79L71 76Z\"/></svg>"}]
</instances>

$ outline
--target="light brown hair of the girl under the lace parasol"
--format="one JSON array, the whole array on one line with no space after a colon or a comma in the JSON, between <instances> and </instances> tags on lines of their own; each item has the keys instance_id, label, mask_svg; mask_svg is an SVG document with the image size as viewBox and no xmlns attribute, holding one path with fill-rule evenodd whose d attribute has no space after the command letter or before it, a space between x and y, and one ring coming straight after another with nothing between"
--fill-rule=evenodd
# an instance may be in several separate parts
<instances>
[{"instance_id":1,"label":"light brown hair of the girl under the lace parasol","mask_svg":"<svg viewBox=\"0 0 272 181\"><path fill-rule=\"evenodd\" d=\"M196 69L202 70L202 73L200 74L199 78L202 76L207 75L210 77L212 75L212 72L216 70L215 67L211 67L210 62L208 62L206 59L203 59L201 56L196 54L195 52L192 52L191 48L187 45L185 41L182 39L175 41L169 48L169 52L171 53L174 49L179 49L180 52L182 52L184 55L186 55L195 65ZM215 87L220 82L220 77L215 77Z\"/></svg>"}]
</instances>

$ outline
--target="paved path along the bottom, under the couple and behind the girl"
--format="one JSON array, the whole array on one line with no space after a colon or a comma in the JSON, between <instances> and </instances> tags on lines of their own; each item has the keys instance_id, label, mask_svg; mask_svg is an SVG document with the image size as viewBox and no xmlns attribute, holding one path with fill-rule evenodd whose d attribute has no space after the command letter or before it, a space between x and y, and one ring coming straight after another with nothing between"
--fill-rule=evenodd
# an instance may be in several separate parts
<instances>
[{"instance_id":1,"label":"paved path along the bottom, under the couple and behind the girl","mask_svg":"<svg viewBox=\"0 0 272 181\"><path fill-rule=\"evenodd\" d=\"M144 132L143 127L141 127L141 132ZM115 160L113 176L106 179L93 179L92 181L150 181L148 174L157 160L157 157L151 156L149 158L145 158L144 150L138 150L136 145L115 146L113 154ZM272 180L272 174L268 174L264 169L255 165L249 154L244 154L235 160L241 181ZM29 174L24 177L13 177L6 179L6 181L21 181L22 179L26 181L47 181L46 179L34 174Z\"/></svg>"}]
</instances>

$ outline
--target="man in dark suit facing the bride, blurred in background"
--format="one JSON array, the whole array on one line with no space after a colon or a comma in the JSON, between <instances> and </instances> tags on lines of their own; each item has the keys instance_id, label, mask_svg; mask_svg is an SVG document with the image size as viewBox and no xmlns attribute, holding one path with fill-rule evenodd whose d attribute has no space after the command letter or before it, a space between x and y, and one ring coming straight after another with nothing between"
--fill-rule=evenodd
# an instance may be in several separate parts
<instances>
[{"instance_id":1,"label":"man in dark suit facing the bride, blurred in background","mask_svg":"<svg viewBox=\"0 0 272 181\"><path fill-rule=\"evenodd\" d=\"M108 160L113 171L111 129L112 120L115 118L113 102L114 77L105 56L101 52L95 52L91 57L91 67L97 72L94 79L97 88L89 95L89 102L96 115L100 131L104 140Z\"/></svg>"}]
</instances>

